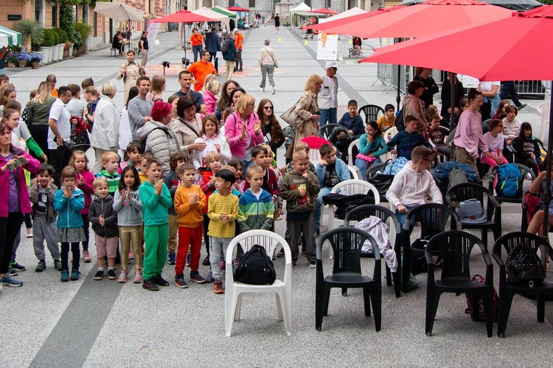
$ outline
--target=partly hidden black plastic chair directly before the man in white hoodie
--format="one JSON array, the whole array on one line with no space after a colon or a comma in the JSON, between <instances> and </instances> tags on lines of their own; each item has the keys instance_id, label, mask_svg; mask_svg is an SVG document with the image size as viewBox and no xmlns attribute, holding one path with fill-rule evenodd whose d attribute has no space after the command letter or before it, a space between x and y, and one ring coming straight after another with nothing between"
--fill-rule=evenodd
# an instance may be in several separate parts
<instances>
[{"instance_id":1,"label":"partly hidden black plastic chair directly before the man in white hoodie","mask_svg":"<svg viewBox=\"0 0 553 368\"><path fill-rule=\"evenodd\" d=\"M414 220L413 220L414 218ZM451 230L461 230L461 220L457 212L438 203L426 203L418 205L409 211L404 224L404 232L402 232L403 245L403 264L402 270L402 290L406 291L406 286L409 282L411 269L418 257L424 257L424 250L413 248L411 246L411 221L420 223L420 239L431 239L431 237L446 230L447 221L450 221Z\"/></svg>"}]
</instances>

